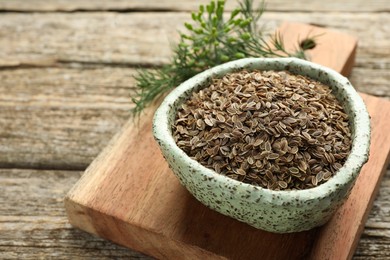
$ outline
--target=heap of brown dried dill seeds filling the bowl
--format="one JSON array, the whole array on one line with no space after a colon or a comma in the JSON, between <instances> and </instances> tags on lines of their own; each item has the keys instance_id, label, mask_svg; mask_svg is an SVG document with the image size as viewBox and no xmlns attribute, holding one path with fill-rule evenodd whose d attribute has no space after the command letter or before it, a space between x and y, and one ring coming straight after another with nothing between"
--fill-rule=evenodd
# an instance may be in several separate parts
<instances>
[{"instance_id":1,"label":"heap of brown dried dill seeds filling the bowl","mask_svg":"<svg viewBox=\"0 0 390 260\"><path fill-rule=\"evenodd\" d=\"M352 142L348 115L330 87L287 71L213 79L181 105L172 131L205 167L272 190L326 182Z\"/></svg>"}]
</instances>

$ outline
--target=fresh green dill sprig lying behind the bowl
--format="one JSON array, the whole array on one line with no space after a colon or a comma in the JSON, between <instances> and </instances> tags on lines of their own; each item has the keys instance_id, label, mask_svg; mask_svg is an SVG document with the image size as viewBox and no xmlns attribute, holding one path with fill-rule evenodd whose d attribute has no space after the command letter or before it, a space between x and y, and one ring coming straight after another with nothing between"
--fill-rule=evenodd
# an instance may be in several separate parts
<instances>
[{"instance_id":1,"label":"fresh green dill sprig lying behind the bowl","mask_svg":"<svg viewBox=\"0 0 390 260\"><path fill-rule=\"evenodd\" d=\"M223 0L201 5L191 14L192 23L184 24L187 31L180 34L171 62L154 70L138 71L132 97L134 115L185 80L221 63L246 57L305 58L306 45L289 52L281 35L269 35L258 28L264 2L255 9L253 0L242 0L226 21L224 7Z\"/></svg>"}]
</instances>

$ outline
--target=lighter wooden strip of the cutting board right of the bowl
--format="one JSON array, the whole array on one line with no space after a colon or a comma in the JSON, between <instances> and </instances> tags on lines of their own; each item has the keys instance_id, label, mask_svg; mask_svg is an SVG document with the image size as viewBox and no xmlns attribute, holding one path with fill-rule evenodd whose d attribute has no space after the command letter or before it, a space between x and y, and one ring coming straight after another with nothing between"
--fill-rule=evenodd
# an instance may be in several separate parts
<instances>
[{"instance_id":1,"label":"lighter wooden strip of the cutting board right of the bowl","mask_svg":"<svg viewBox=\"0 0 390 260\"><path fill-rule=\"evenodd\" d=\"M311 255L313 259L352 257L358 243L356 236L360 237L389 163L390 136L386 133L390 128L388 120L390 102L374 99L368 95L362 97L371 116L370 159L364 166L348 200L319 232Z\"/></svg>"}]
</instances>

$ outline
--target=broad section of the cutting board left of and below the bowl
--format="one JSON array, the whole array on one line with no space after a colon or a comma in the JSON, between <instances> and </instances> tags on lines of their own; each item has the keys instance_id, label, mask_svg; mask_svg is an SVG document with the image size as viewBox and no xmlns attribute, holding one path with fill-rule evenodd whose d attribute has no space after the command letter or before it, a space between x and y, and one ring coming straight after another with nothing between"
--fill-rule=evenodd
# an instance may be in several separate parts
<instances>
[{"instance_id":1,"label":"broad section of the cutting board left of and below the bowl","mask_svg":"<svg viewBox=\"0 0 390 260\"><path fill-rule=\"evenodd\" d=\"M151 113L145 118L150 117ZM132 134L136 128L138 135ZM145 158L153 159L146 164L134 163ZM108 161L109 164L105 163ZM153 191L154 195L144 191ZM129 121L90 165L65 203L70 222L76 227L159 259L209 259L218 254L237 258L240 251L236 248L254 253L253 244L267 244L269 239L275 240L275 247L292 242L288 236L255 230L196 201L162 158L151 136L151 120L143 120L138 126ZM233 230L240 230L246 238L240 239L231 233ZM312 236L307 232L300 234L299 238L306 243L293 256L301 256ZM227 244L234 242L235 246L223 247L219 243L222 240ZM263 251L263 256L271 255Z\"/></svg>"}]
</instances>

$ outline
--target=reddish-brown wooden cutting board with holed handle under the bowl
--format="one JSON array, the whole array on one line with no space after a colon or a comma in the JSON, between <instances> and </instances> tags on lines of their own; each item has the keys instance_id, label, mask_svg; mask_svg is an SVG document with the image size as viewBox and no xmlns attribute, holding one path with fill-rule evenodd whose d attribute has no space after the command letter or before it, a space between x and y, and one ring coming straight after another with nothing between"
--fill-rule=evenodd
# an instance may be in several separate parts
<instances>
[{"instance_id":1,"label":"reddish-brown wooden cutting board with holed handle under the bowl","mask_svg":"<svg viewBox=\"0 0 390 260\"><path fill-rule=\"evenodd\" d=\"M280 31L290 46L308 33L321 34L312 61L349 74L353 37L302 24L284 24ZM390 151L390 102L362 97L372 118L370 159L349 199L322 227L274 234L203 206L180 185L153 140L153 109L138 124L130 119L66 196L70 223L159 259L350 258Z\"/></svg>"}]
</instances>

